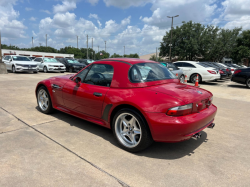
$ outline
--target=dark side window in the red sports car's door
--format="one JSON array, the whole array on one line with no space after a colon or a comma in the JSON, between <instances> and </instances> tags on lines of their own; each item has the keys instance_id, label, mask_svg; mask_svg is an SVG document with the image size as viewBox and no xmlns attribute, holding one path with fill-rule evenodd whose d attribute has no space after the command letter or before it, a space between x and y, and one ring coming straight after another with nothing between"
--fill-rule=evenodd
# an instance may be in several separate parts
<instances>
[{"instance_id":1,"label":"dark side window in the red sports car's door","mask_svg":"<svg viewBox=\"0 0 250 187\"><path fill-rule=\"evenodd\" d=\"M110 87L114 69L107 64L94 64L84 80L86 84Z\"/></svg>"}]
</instances>

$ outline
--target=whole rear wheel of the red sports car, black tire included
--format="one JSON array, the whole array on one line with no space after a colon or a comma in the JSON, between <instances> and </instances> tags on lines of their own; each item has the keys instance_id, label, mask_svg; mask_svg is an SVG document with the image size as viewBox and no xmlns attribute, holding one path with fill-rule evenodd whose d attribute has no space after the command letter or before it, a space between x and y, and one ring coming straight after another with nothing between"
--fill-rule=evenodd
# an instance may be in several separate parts
<instances>
[{"instance_id":1,"label":"whole rear wheel of the red sports car, black tire included","mask_svg":"<svg viewBox=\"0 0 250 187\"><path fill-rule=\"evenodd\" d=\"M133 109L119 110L113 118L112 130L119 146L129 152L142 151L153 143L147 123Z\"/></svg>"}]
</instances>

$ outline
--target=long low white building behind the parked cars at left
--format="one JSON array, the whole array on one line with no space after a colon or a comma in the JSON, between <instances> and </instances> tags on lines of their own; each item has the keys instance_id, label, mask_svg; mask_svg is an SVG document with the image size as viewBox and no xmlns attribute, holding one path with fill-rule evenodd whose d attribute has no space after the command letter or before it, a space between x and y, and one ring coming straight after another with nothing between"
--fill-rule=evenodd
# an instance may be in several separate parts
<instances>
[{"instance_id":1,"label":"long low white building behind the parked cars at left","mask_svg":"<svg viewBox=\"0 0 250 187\"><path fill-rule=\"evenodd\" d=\"M2 49L2 56L6 56L6 55L20 55L20 56L28 56L28 57L49 57L49 58L74 58L74 54L46 53L46 52L36 52L36 51Z\"/></svg>"}]
</instances>

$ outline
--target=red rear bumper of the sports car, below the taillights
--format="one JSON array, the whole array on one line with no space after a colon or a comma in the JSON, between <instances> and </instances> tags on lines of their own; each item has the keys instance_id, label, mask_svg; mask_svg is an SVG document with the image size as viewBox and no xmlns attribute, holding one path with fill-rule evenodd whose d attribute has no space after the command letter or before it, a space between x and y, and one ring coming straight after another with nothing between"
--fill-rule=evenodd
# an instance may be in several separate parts
<instances>
[{"instance_id":1,"label":"red rear bumper of the sports car, below the taillights","mask_svg":"<svg viewBox=\"0 0 250 187\"><path fill-rule=\"evenodd\" d=\"M211 105L200 113L179 117L167 116L165 113L145 114L154 141L179 142L192 138L194 134L208 127L213 122L216 111L217 107Z\"/></svg>"}]
</instances>

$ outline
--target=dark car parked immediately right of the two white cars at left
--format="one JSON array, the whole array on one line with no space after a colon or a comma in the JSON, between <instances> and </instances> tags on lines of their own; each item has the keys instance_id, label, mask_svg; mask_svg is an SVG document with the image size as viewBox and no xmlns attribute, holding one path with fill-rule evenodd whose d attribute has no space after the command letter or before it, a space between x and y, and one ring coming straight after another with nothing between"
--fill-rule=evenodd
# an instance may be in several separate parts
<instances>
[{"instance_id":1,"label":"dark car parked immediately right of the two white cars at left","mask_svg":"<svg viewBox=\"0 0 250 187\"><path fill-rule=\"evenodd\" d=\"M66 71L68 72L78 72L82 68L85 68L86 65L79 63L75 59L69 59L69 58L56 58L57 61L61 62L66 66Z\"/></svg>"}]
</instances>

